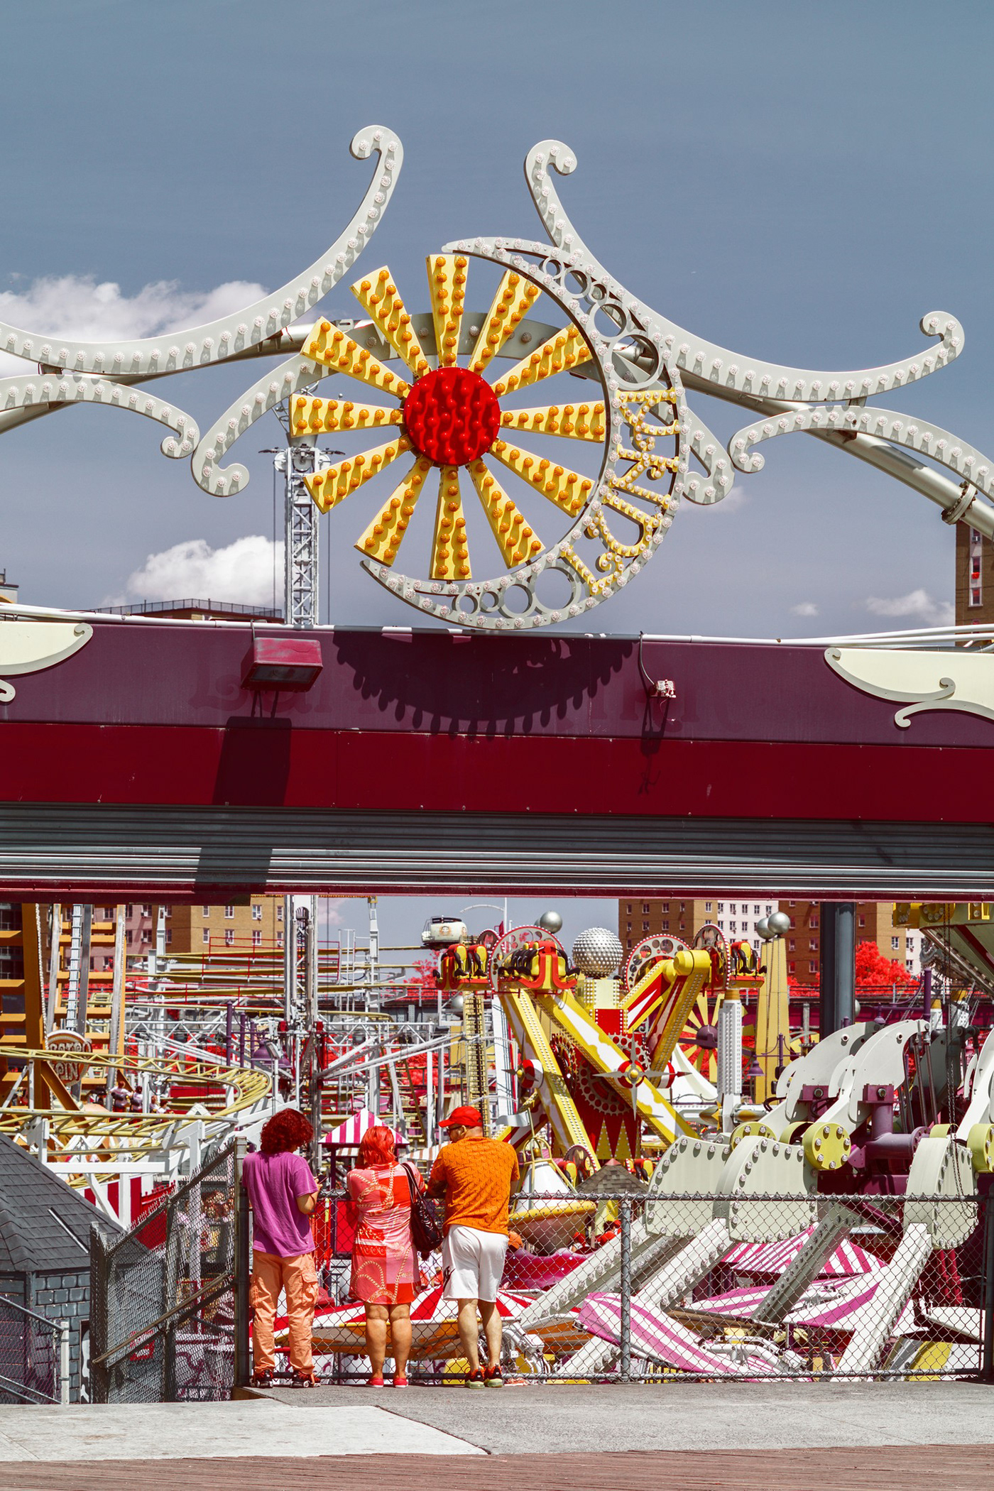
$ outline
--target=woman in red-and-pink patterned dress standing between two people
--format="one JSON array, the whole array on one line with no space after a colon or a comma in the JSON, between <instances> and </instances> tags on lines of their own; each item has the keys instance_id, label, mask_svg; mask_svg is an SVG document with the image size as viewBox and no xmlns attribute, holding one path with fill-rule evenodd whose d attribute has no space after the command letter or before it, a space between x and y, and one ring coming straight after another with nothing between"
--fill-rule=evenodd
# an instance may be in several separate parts
<instances>
[{"instance_id":1,"label":"woman in red-and-pink patterned dress standing between two people","mask_svg":"<svg viewBox=\"0 0 994 1491\"><path fill-rule=\"evenodd\" d=\"M425 1188L411 1166L419 1190ZM386 1328L390 1325L393 1387L407 1387L411 1354L411 1300L422 1288L417 1249L411 1238L408 1172L398 1164L389 1129L368 1129L359 1144L359 1163L349 1172L352 1245L352 1297L365 1306L365 1340L370 1387L383 1387Z\"/></svg>"}]
</instances>

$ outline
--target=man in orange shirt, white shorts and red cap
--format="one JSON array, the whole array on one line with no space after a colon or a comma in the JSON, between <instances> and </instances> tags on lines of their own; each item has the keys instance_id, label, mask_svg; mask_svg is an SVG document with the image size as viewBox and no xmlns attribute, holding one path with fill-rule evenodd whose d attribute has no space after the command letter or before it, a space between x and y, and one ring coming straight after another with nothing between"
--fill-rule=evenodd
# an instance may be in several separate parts
<instances>
[{"instance_id":1,"label":"man in orange shirt, white shorts and red cap","mask_svg":"<svg viewBox=\"0 0 994 1491\"><path fill-rule=\"evenodd\" d=\"M446 1197L441 1248L443 1297L459 1300L459 1340L469 1372L468 1388L501 1388L501 1315L496 1293L507 1252L511 1185L519 1179L510 1144L486 1139L478 1108L456 1108L441 1126L447 1144L432 1166L429 1196ZM480 1327L487 1339L487 1366L480 1370Z\"/></svg>"}]
</instances>

